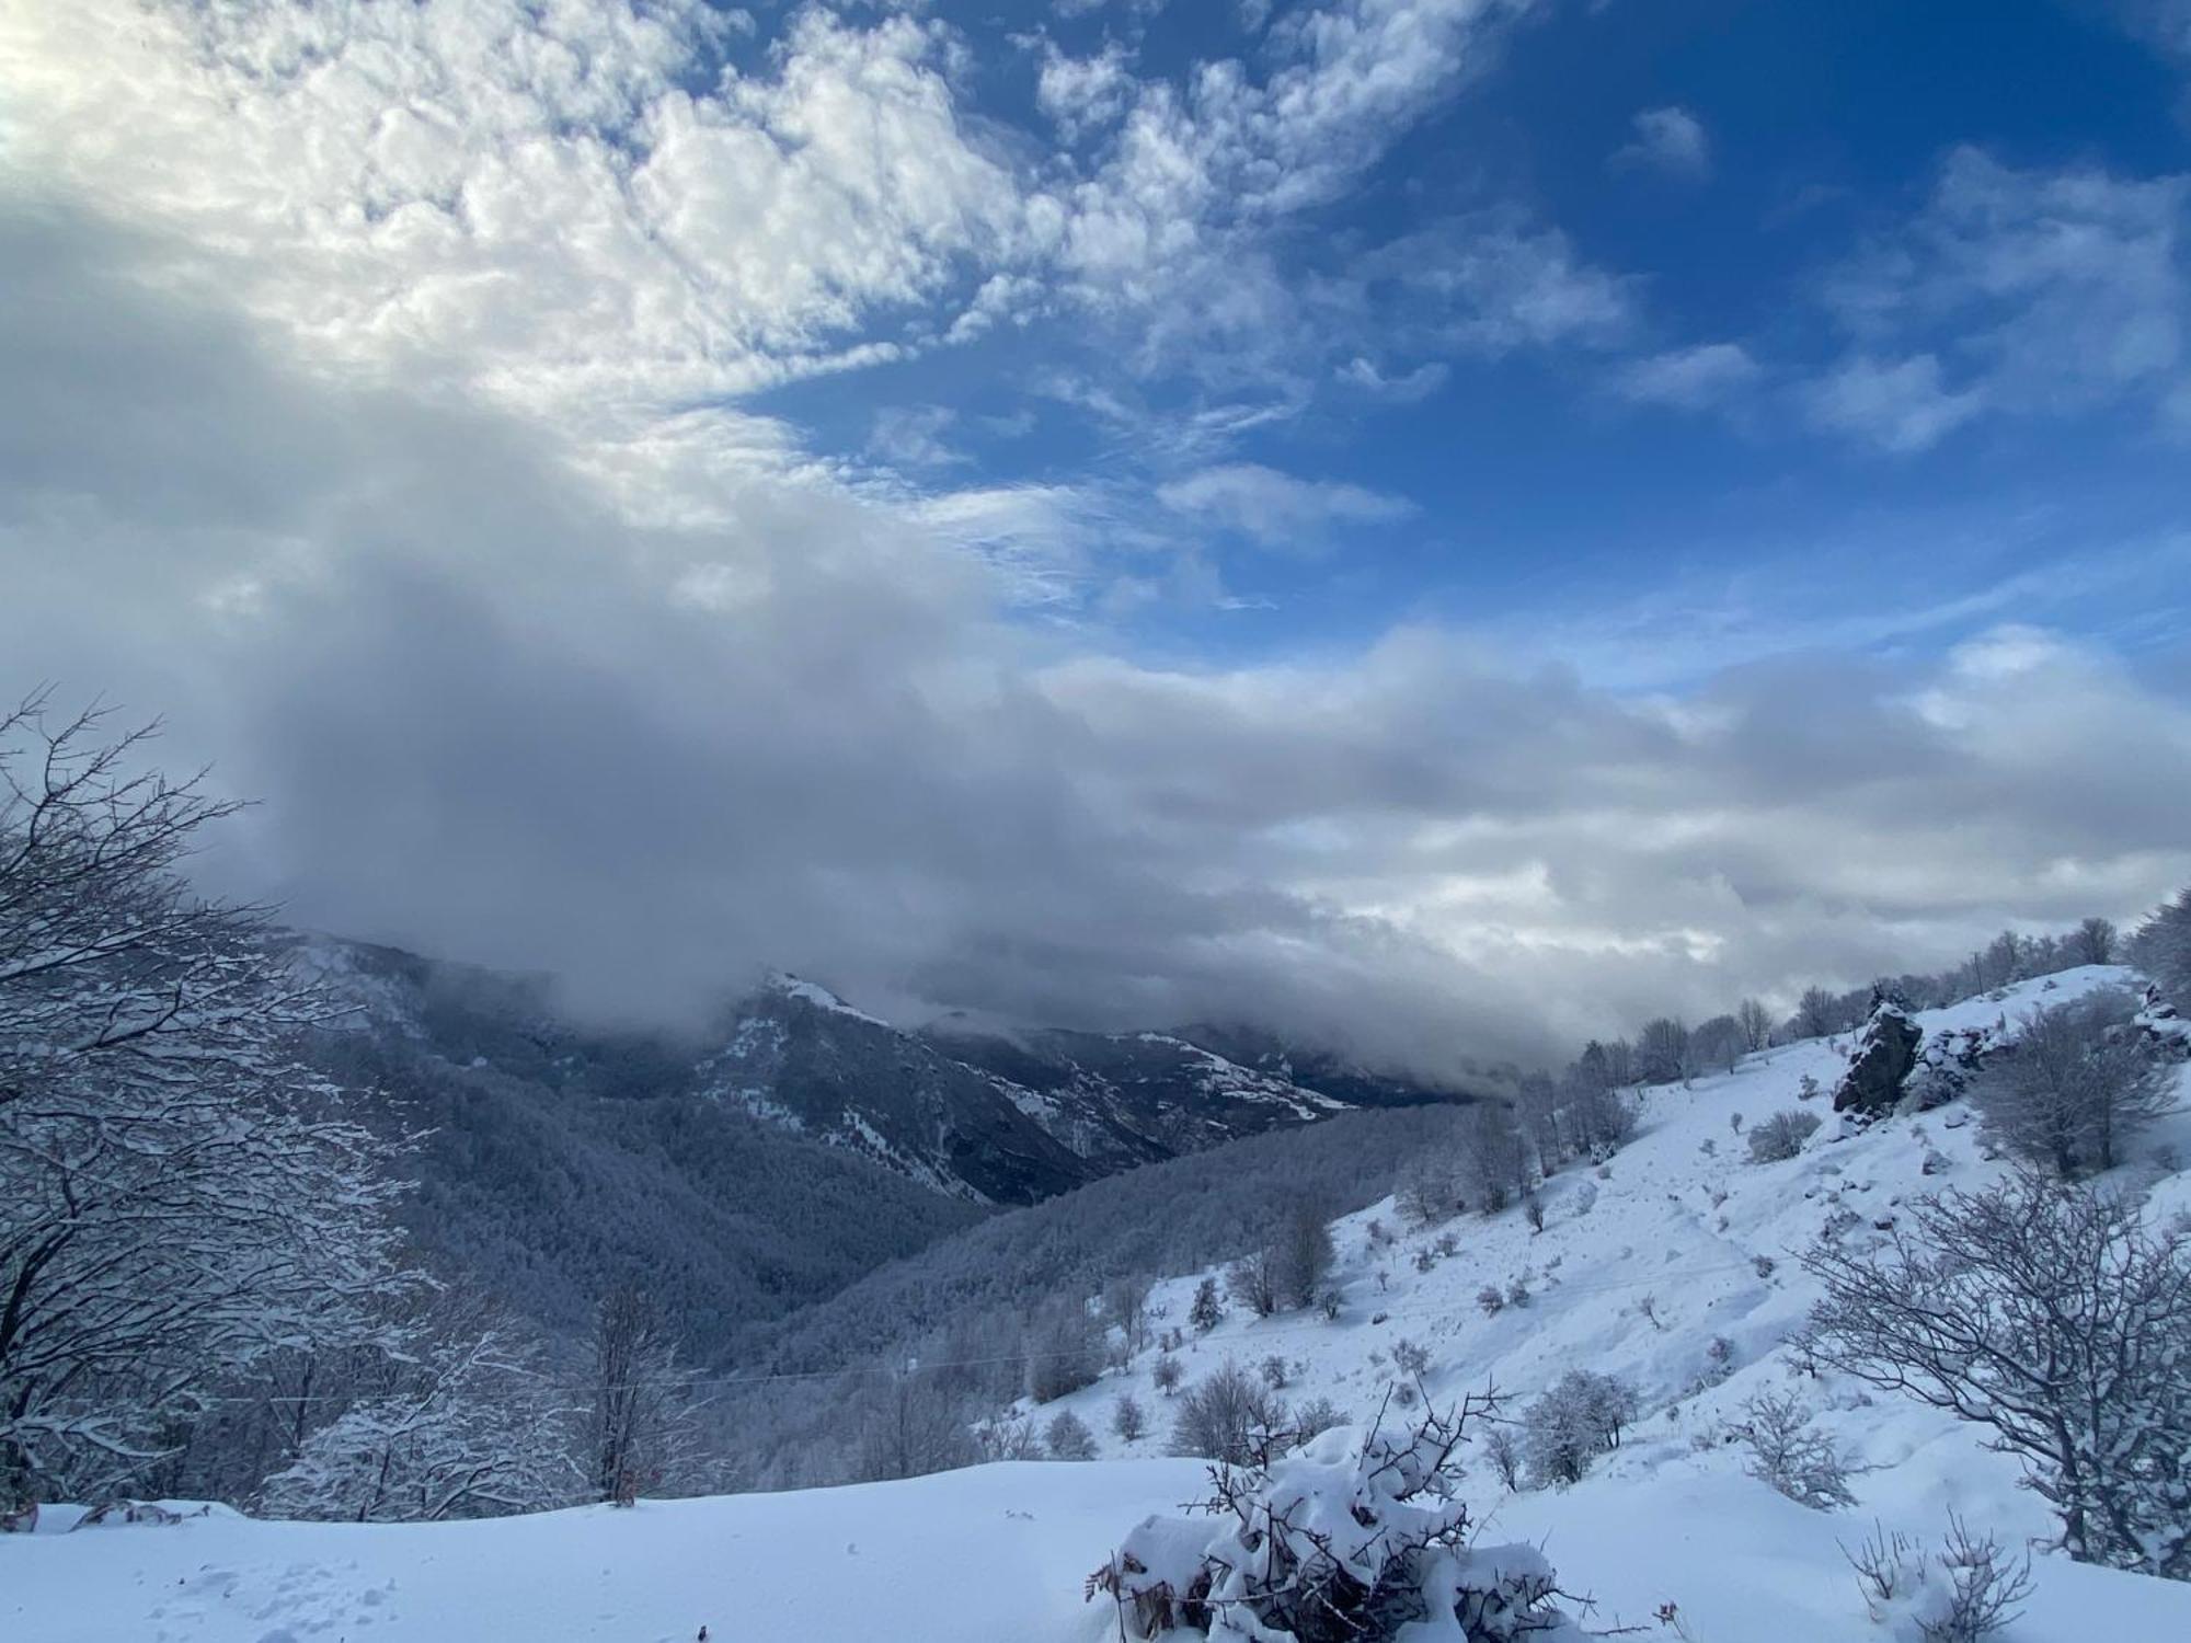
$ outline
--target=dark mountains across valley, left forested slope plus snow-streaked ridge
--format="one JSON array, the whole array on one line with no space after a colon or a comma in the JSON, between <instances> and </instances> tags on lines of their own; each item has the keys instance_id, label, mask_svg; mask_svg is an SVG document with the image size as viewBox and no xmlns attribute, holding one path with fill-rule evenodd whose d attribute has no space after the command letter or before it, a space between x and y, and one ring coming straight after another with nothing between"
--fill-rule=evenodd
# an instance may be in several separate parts
<instances>
[{"instance_id":1,"label":"dark mountains across valley, left forested slope plus snow-streaked ridge","mask_svg":"<svg viewBox=\"0 0 2191 1643\"><path fill-rule=\"evenodd\" d=\"M1361 1095L1177 1034L903 1032L798 977L688 1038L616 1032L572 1023L543 975L287 940L342 1006L316 1062L423 1133L403 1214L429 1264L561 1336L646 1273L706 1360L990 1207Z\"/></svg>"}]
</instances>

